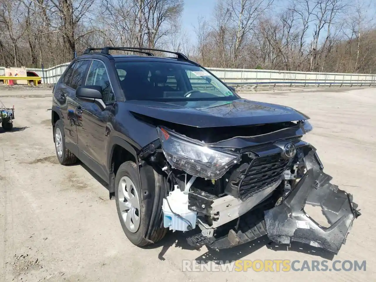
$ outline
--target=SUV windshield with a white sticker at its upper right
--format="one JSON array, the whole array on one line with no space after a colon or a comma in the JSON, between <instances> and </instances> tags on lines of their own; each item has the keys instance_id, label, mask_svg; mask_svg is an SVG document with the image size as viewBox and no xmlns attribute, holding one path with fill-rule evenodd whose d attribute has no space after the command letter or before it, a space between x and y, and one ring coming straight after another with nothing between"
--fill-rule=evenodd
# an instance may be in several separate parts
<instances>
[{"instance_id":1,"label":"SUV windshield with a white sticker at its upper right","mask_svg":"<svg viewBox=\"0 0 376 282\"><path fill-rule=\"evenodd\" d=\"M127 100L235 100L220 80L195 65L171 62L115 64Z\"/></svg>"}]
</instances>

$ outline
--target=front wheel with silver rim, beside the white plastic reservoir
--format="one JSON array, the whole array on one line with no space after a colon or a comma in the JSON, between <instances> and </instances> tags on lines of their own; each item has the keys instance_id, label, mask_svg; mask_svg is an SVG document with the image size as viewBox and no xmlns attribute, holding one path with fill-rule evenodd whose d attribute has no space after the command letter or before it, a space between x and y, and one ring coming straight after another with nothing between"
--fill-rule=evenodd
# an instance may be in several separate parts
<instances>
[{"instance_id":1,"label":"front wheel with silver rim, beside the white plastic reservoir","mask_svg":"<svg viewBox=\"0 0 376 282\"><path fill-rule=\"evenodd\" d=\"M115 177L115 201L125 235L132 244L143 247L161 240L166 235L167 229L156 227L151 232L150 241L152 242L144 238L149 220L145 218L138 174L134 162L127 161L120 165Z\"/></svg>"}]
</instances>

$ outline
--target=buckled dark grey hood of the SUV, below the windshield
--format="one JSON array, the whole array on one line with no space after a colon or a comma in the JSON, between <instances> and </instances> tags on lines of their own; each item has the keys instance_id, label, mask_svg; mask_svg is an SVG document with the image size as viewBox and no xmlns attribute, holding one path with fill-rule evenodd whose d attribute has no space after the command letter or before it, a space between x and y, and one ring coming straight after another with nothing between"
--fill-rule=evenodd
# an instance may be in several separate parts
<instances>
[{"instance_id":1,"label":"buckled dark grey hood of the SUV, below the windshield","mask_svg":"<svg viewBox=\"0 0 376 282\"><path fill-rule=\"evenodd\" d=\"M245 99L233 101L127 101L131 112L194 127L242 126L307 120L290 107Z\"/></svg>"}]
</instances>

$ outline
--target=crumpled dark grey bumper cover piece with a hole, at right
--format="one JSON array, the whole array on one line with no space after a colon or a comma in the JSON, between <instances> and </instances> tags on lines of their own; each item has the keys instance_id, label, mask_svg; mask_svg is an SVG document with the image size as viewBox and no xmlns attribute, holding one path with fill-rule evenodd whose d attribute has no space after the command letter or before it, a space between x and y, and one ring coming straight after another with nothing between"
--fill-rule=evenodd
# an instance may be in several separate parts
<instances>
[{"instance_id":1,"label":"crumpled dark grey bumper cover piece with a hole, at right","mask_svg":"<svg viewBox=\"0 0 376 282\"><path fill-rule=\"evenodd\" d=\"M305 156L308 171L284 199L265 211L270 240L280 244L300 241L338 253L346 242L353 220L360 214L351 194L330 183L331 176L321 169L313 150ZM306 204L320 206L329 227L322 227L304 211Z\"/></svg>"}]
</instances>

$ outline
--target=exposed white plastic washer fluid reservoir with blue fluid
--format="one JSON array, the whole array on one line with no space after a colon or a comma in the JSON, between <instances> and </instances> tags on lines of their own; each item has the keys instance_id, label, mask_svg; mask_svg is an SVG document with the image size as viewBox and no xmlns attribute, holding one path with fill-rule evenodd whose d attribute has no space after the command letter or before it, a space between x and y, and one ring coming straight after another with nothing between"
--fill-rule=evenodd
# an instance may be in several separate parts
<instances>
[{"instance_id":1,"label":"exposed white plastic washer fluid reservoir with blue fluid","mask_svg":"<svg viewBox=\"0 0 376 282\"><path fill-rule=\"evenodd\" d=\"M177 185L175 185L174 191L171 191L170 194L163 199L162 211L163 211L163 225L164 227L169 227L170 230L176 231L188 231L189 221L192 225L192 229L196 228L196 217L197 212L190 211L188 209L188 194L180 191ZM170 204L170 207L168 206ZM180 215L182 218L177 217L175 214Z\"/></svg>"}]
</instances>

